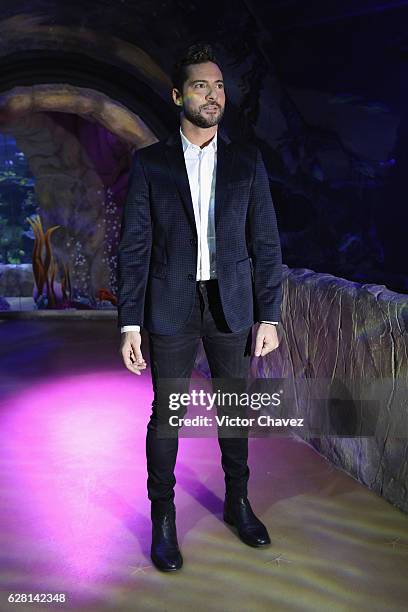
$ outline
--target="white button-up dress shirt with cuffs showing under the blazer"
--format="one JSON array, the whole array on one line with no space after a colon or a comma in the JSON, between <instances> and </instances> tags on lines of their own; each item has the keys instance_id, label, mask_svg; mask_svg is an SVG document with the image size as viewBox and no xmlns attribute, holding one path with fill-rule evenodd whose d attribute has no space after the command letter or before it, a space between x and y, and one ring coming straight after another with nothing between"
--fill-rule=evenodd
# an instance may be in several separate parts
<instances>
[{"instance_id":1,"label":"white button-up dress shirt with cuffs showing under the blazer","mask_svg":"<svg viewBox=\"0 0 408 612\"><path fill-rule=\"evenodd\" d=\"M196 279L204 281L217 277L214 206L218 132L202 148L190 142L181 127L180 135L198 236ZM261 323L278 324L277 321L261 321ZM121 332L126 331L140 331L140 325L121 327Z\"/></svg>"}]
</instances>

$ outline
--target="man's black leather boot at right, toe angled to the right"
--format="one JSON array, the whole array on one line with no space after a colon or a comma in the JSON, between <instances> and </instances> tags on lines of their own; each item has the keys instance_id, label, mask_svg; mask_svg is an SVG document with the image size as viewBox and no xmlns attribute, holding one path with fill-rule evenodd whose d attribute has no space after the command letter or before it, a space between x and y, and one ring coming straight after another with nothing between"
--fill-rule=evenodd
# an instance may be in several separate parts
<instances>
[{"instance_id":1,"label":"man's black leather boot at right, toe angled to the right","mask_svg":"<svg viewBox=\"0 0 408 612\"><path fill-rule=\"evenodd\" d=\"M225 496L224 521L237 528L239 538L248 546L267 546L271 543L265 525L253 513L246 496Z\"/></svg>"}]
</instances>

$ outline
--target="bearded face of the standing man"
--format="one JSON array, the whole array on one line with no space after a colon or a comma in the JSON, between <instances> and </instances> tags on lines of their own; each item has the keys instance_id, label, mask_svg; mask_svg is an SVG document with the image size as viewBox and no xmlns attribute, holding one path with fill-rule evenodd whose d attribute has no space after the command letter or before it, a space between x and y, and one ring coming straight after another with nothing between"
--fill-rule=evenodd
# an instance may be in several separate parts
<instances>
[{"instance_id":1,"label":"bearded face of the standing man","mask_svg":"<svg viewBox=\"0 0 408 612\"><path fill-rule=\"evenodd\" d=\"M182 101L183 114L198 127L208 128L220 123L225 109L222 72L217 64L204 62L187 66L188 78L183 95L173 89L173 99Z\"/></svg>"}]
</instances>

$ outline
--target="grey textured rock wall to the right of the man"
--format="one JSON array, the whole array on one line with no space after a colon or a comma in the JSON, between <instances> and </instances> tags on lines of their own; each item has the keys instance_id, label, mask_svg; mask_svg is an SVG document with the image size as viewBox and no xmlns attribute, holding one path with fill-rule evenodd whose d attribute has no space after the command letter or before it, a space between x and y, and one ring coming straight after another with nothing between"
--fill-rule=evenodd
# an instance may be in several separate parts
<instances>
[{"instance_id":1,"label":"grey textured rock wall to the right of the man","mask_svg":"<svg viewBox=\"0 0 408 612\"><path fill-rule=\"evenodd\" d=\"M252 378L329 380L333 397L376 401L375 435L303 436L318 452L408 512L408 296L284 266L280 345ZM256 327L254 328L255 337ZM209 375L202 346L197 367ZM363 388L365 391L359 393ZM358 392L356 394L356 392ZM314 404L310 410L317 410ZM294 414L308 408L294 404ZM378 410L378 412L377 412ZM313 416L313 415L311 415ZM316 415L315 415L316 416Z\"/></svg>"}]
</instances>

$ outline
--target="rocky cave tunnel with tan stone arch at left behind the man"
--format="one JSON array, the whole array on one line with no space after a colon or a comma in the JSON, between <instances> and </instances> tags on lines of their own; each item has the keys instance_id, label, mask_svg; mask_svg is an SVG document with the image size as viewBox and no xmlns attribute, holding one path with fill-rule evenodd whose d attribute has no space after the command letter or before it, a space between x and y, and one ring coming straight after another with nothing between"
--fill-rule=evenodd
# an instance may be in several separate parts
<instances>
[{"instance_id":1,"label":"rocky cave tunnel with tan stone arch at left behind the man","mask_svg":"<svg viewBox=\"0 0 408 612\"><path fill-rule=\"evenodd\" d=\"M71 307L109 305L98 297L116 294L115 249L132 151L162 137L171 128L170 113L166 122L159 94L137 77L129 87L123 71L79 53L12 54L3 59L1 74L1 134L13 138L35 183L31 218L40 217L44 233L58 226L52 236L54 301L62 303L61 281L68 276ZM4 140L4 162L14 164L9 157ZM7 179L24 182L19 175ZM41 307L47 299L32 286L33 247L19 248L13 231L16 223L24 224L25 234L30 226L18 214L24 215L18 194L13 200L14 225L10 210L3 211L3 242L7 231L10 238L2 253L2 294L16 309ZM27 261L20 261L22 254Z\"/></svg>"}]
</instances>

